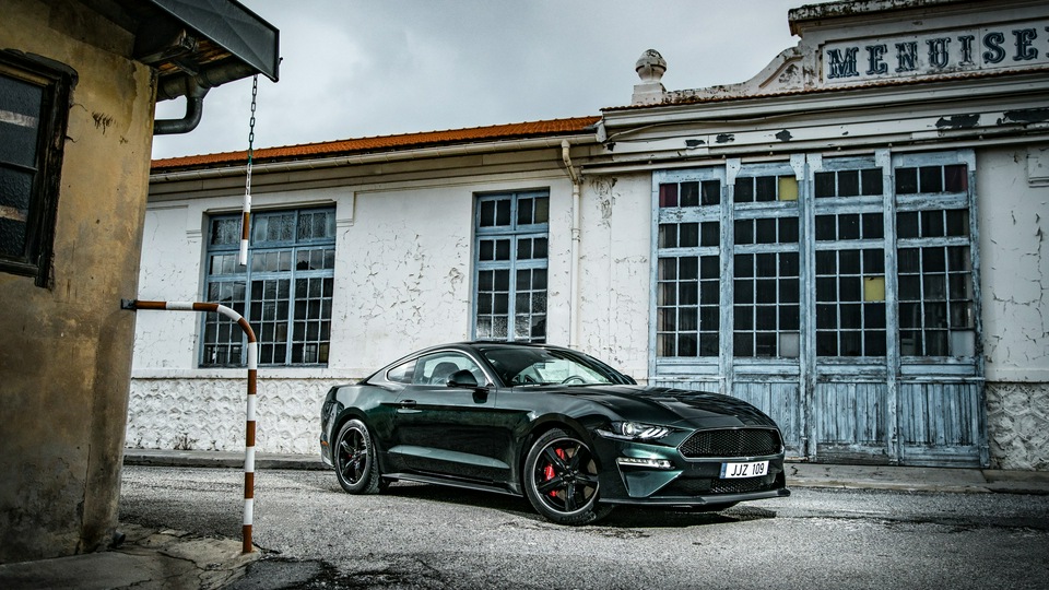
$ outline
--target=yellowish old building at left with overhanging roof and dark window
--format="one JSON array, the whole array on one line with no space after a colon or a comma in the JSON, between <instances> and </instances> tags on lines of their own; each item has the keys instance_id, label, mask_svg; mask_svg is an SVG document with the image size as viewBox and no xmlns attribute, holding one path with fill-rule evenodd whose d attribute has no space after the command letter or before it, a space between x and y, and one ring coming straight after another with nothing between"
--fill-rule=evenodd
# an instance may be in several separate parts
<instances>
[{"instance_id":1,"label":"yellowish old building at left with overhanging roof and dark window","mask_svg":"<svg viewBox=\"0 0 1049 590\"><path fill-rule=\"evenodd\" d=\"M278 78L232 0L8 0L0 19L0 563L106 548L128 421L153 133ZM222 91L215 91L222 92ZM156 101L186 116L154 121Z\"/></svg>"}]
</instances>

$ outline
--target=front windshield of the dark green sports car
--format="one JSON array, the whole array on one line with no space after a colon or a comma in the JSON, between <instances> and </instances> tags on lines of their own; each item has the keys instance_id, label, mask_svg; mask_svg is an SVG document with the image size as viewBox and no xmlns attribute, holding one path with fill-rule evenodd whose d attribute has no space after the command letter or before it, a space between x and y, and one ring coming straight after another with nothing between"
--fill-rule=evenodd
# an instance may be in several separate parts
<instances>
[{"instance_id":1,"label":"front windshield of the dark green sports car","mask_svg":"<svg viewBox=\"0 0 1049 590\"><path fill-rule=\"evenodd\" d=\"M540 347L481 349L507 386L630 384L612 367L585 354Z\"/></svg>"}]
</instances>

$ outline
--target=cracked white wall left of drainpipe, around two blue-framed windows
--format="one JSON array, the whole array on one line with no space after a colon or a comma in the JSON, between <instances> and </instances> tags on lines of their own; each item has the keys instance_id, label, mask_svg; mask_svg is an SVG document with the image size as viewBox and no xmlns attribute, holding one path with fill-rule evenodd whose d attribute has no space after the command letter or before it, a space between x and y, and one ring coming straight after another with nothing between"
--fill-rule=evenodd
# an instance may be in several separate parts
<instances>
[{"instance_id":1,"label":"cracked white wall left of drainpipe, around two blue-framed windows","mask_svg":"<svg viewBox=\"0 0 1049 590\"><path fill-rule=\"evenodd\" d=\"M317 452L320 404L332 385L423 346L469 339L475 196L531 189L549 189L551 199L547 341L567 344L571 185L565 174L254 196L256 210L334 202L337 217L329 365L259 368L259 451ZM239 194L152 203L138 298L199 300L207 216L239 206ZM641 231L647 239L647 226ZM246 371L198 368L200 315L143 310L137 319L128 446L243 449Z\"/></svg>"}]
</instances>

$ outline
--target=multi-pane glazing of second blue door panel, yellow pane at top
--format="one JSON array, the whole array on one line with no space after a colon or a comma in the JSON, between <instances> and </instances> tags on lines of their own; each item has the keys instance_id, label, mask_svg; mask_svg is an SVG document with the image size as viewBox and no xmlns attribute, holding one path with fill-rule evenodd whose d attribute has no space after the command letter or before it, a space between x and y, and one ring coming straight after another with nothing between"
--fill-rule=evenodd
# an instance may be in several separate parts
<instances>
[{"instance_id":1,"label":"multi-pane glazing of second blue door panel, yellow pane at top","mask_svg":"<svg viewBox=\"0 0 1049 590\"><path fill-rule=\"evenodd\" d=\"M732 351L800 352L798 180L789 166L744 166L733 191Z\"/></svg>"}]
</instances>

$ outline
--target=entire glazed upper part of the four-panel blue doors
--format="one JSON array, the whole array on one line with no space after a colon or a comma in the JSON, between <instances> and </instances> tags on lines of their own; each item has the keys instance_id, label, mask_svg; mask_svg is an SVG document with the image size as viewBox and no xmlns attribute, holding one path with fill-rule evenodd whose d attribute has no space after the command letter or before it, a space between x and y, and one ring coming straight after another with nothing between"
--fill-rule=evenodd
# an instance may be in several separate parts
<instances>
[{"instance_id":1,"label":"entire glazed upper part of the four-panel blue doors","mask_svg":"<svg viewBox=\"0 0 1049 590\"><path fill-rule=\"evenodd\" d=\"M657 366L714 362L719 342L736 359L841 363L887 358L897 345L903 357L973 357L971 158L795 158L804 181L794 165L736 161L729 203L718 178L731 164L658 173ZM731 314L719 317L728 294Z\"/></svg>"}]
</instances>

